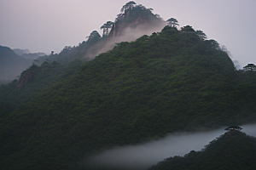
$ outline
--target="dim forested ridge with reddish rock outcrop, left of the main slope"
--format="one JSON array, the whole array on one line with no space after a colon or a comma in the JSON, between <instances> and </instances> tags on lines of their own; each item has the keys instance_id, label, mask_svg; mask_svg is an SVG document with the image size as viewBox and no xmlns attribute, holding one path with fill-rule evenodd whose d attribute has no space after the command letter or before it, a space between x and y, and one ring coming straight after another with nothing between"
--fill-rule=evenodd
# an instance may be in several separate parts
<instances>
[{"instance_id":1,"label":"dim forested ridge with reddish rock outcrop, left of the main slope","mask_svg":"<svg viewBox=\"0 0 256 170\"><path fill-rule=\"evenodd\" d=\"M42 65L32 65L20 73L20 79L0 88L0 118L14 111L17 105L26 103L37 94L45 92L49 86L61 81L79 70L82 61L75 59L67 65L54 61Z\"/></svg>"}]
</instances>

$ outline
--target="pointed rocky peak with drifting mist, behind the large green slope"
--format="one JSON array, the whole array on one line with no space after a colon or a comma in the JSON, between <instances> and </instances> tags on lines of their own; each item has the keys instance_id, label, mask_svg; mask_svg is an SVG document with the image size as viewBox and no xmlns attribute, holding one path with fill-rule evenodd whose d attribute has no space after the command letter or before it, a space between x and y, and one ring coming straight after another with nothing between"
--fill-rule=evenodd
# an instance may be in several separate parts
<instances>
[{"instance_id":1,"label":"pointed rocky peak with drifting mist, behind the large green slope","mask_svg":"<svg viewBox=\"0 0 256 170\"><path fill-rule=\"evenodd\" d=\"M66 46L60 54L42 56L35 59L34 62L41 65L44 61L50 63L54 60L64 64L73 59L88 61L94 59L98 54L112 49L118 42L135 41L143 35L151 35L152 32L161 31L166 25L159 15L152 13L152 8L135 4L127 6L127 3L123 8L125 8L124 13L118 14L108 35L101 37L97 31L92 31L88 40L79 43L78 46Z\"/></svg>"}]
</instances>

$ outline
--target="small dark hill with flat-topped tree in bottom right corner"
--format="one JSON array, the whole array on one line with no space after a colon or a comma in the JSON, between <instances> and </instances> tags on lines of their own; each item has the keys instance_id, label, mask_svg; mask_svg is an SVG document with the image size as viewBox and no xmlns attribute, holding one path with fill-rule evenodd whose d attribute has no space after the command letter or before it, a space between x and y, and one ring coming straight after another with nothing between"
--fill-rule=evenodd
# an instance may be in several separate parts
<instances>
[{"instance_id":1,"label":"small dark hill with flat-topped tree in bottom right corner","mask_svg":"<svg viewBox=\"0 0 256 170\"><path fill-rule=\"evenodd\" d=\"M256 168L256 138L236 130L224 133L201 151L190 151L185 156L169 157L148 170L166 169L225 169Z\"/></svg>"}]
</instances>

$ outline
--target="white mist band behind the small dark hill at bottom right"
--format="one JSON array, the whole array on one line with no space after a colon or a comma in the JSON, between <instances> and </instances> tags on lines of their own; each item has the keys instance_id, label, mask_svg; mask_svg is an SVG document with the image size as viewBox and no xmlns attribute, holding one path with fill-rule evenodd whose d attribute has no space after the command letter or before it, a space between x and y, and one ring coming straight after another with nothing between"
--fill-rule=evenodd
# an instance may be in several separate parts
<instances>
[{"instance_id":1,"label":"white mist band behind the small dark hill at bottom right","mask_svg":"<svg viewBox=\"0 0 256 170\"><path fill-rule=\"evenodd\" d=\"M256 124L240 126L241 132L256 137ZM191 150L199 151L213 139L224 134L225 127L195 133L171 133L163 139L152 140L145 144L126 145L105 150L92 156L90 161L102 167L119 169L147 169L170 156L184 156Z\"/></svg>"}]
</instances>

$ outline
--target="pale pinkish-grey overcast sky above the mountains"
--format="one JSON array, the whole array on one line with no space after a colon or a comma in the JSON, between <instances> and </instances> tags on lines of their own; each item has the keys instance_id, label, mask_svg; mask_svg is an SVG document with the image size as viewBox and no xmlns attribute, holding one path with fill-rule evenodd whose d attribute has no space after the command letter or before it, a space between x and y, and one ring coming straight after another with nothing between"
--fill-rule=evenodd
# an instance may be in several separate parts
<instances>
[{"instance_id":1,"label":"pale pinkish-grey overcast sky above the mountains","mask_svg":"<svg viewBox=\"0 0 256 170\"><path fill-rule=\"evenodd\" d=\"M0 45L60 53L114 21L129 0L0 0ZM137 0L164 20L193 26L226 46L241 66L256 64L256 0Z\"/></svg>"}]
</instances>

